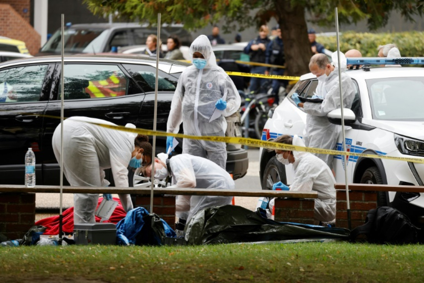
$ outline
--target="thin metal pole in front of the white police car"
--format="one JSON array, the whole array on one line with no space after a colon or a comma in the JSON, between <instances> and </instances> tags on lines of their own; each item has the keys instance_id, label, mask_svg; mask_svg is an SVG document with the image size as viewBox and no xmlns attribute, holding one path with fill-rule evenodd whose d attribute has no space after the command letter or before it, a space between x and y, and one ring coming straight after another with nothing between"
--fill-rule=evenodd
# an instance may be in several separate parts
<instances>
[{"instance_id":1,"label":"thin metal pole in front of the white police car","mask_svg":"<svg viewBox=\"0 0 424 283\"><path fill-rule=\"evenodd\" d=\"M342 133L343 133L343 151L346 152L346 134L344 128L344 114L343 114L343 93L342 93L342 73L340 72L340 44L339 44L339 17L337 7L335 8L335 18L336 18L336 37L337 37L337 59L338 59L338 68L339 68L339 91L340 91L340 103L341 103L341 114L342 114ZM350 215L350 203L349 203L349 184L347 182L347 161L349 157L347 155L342 155L344 162L344 171L345 171L345 183L346 183L346 208L347 208L347 222L349 230L352 229L351 225L351 215Z\"/></svg>"}]
</instances>

